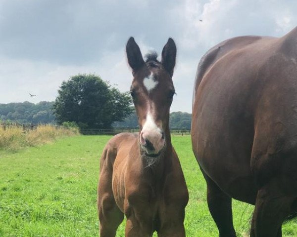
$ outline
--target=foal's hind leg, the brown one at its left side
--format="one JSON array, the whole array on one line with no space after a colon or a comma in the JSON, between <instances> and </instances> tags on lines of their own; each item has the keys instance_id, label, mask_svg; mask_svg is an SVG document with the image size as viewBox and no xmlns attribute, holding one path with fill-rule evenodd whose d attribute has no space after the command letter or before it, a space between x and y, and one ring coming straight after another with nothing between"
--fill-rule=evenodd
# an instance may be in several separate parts
<instances>
[{"instance_id":1,"label":"foal's hind leg, the brown one at its left side","mask_svg":"<svg viewBox=\"0 0 297 237\"><path fill-rule=\"evenodd\" d=\"M111 186L114 156L115 154L105 149L100 160L98 185L100 237L115 237L116 230L124 219L124 214L115 202Z\"/></svg>"}]
</instances>

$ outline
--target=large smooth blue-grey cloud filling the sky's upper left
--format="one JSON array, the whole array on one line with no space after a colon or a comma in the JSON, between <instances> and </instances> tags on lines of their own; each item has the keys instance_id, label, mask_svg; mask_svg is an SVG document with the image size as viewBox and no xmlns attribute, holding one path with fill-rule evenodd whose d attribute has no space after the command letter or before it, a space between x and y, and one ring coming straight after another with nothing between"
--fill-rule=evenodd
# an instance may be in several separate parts
<instances>
[{"instance_id":1,"label":"large smooth blue-grey cloud filling the sky's upper left","mask_svg":"<svg viewBox=\"0 0 297 237\"><path fill-rule=\"evenodd\" d=\"M157 0L6 0L0 10L0 53L82 65L118 50L130 36L156 46L174 31L169 6Z\"/></svg>"}]
</instances>

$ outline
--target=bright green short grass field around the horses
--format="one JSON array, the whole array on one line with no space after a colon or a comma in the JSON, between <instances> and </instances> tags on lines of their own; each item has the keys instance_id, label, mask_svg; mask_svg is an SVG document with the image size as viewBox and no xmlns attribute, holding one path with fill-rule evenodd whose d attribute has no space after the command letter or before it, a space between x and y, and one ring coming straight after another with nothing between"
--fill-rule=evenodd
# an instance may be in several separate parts
<instances>
[{"instance_id":1,"label":"bright green short grass field around the horses","mask_svg":"<svg viewBox=\"0 0 297 237\"><path fill-rule=\"evenodd\" d=\"M0 151L0 237L98 237L96 207L99 157L111 136L74 136L16 153ZM216 237L206 204L206 185L190 136L173 136L186 177L188 237ZM247 237L253 206L234 201L238 237ZM283 226L297 236L297 221ZM124 223L117 237L124 237Z\"/></svg>"}]
</instances>

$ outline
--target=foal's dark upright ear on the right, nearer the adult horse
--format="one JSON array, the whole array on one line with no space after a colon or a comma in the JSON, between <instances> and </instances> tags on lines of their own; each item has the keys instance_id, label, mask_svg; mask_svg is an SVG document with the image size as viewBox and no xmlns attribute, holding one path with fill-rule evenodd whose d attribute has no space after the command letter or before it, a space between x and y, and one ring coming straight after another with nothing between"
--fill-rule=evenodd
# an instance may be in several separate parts
<instances>
[{"instance_id":1,"label":"foal's dark upright ear on the right, nearer the adult horse","mask_svg":"<svg viewBox=\"0 0 297 237\"><path fill-rule=\"evenodd\" d=\"M169 38L162 50L161 63L163 64L163 67L167 70L167 72L170 74L171 77L173 75L173 69L175 66L175 58L176 58L175 42L171 38Z\"/></svg>"}]
</instances>

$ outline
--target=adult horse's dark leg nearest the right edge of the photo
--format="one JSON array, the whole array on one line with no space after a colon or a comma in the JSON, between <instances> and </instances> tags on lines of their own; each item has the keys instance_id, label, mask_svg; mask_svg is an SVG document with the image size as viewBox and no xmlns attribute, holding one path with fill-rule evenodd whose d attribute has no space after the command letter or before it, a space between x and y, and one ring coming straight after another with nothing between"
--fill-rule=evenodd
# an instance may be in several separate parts
<instances>
[{"instance_id":1,"label":"adult horse's dark leg nearest the right edge of the photo","mask_svg":"<svg viewBox=\"0 0 297 237\"><path fill-rule=\"evenodd\" d=\"M280 180L275 179L258 190L250 231L251 237L282 236L282 222L292 211L294 197L285 195L281 187Z\"/></svg>"}]
</instances>

